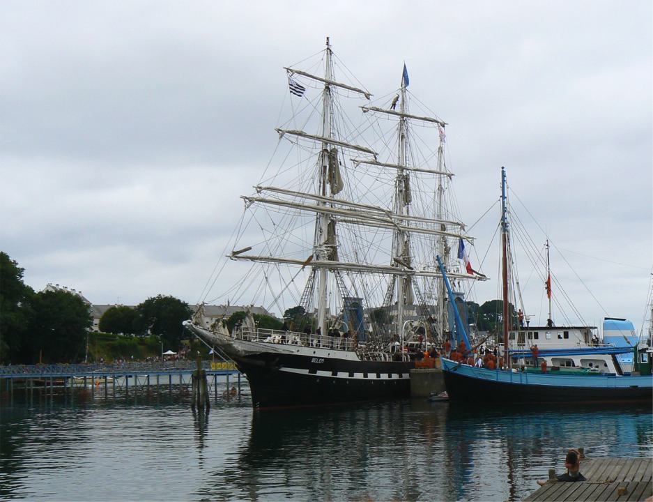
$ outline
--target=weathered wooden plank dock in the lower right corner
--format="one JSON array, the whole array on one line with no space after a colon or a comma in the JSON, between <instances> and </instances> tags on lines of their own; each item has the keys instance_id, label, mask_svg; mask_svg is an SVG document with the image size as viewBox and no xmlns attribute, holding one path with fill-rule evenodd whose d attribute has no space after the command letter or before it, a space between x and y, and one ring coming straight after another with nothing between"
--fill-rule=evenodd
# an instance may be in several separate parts
<instances>
[{"instance_id":1,"label":"weathered wooden plank dock in the lower right corner","mask_svg":"<svg viewBox=\"0 0 653 502\"><path fill-rule=\"evenodd\" d=\"M524 502L645 501L653 496L650 458L583 459L581 473L586 481L548 481Z\"/></svg>"}]
</instances>

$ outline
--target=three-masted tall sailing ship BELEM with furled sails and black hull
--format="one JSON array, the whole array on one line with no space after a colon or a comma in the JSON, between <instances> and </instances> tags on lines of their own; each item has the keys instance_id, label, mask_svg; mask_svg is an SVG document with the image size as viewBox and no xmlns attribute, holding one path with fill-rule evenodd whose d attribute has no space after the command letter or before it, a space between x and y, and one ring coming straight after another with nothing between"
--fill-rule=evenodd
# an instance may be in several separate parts
<instances>
[{"instance_id":1,"label":"three-masted tall sailing ship BELEM with furled sails and black hull","mask_svg":"<svg viewBox=\"0 0 653 502\"><path fill-rule=\"evenodd\" d=\"M248 294L247 305L301 315L282 330L250 313L231 330L209 326L201 308L185 322L233 359L255 408L408 397L415 358L451 329L436 255L452 280L482 277L456 258L473 238L448 204L446 124L410 113L406 66L397 93L378 102L339 79L328 38L319 66L285 68L293 116L276 129L282 162L243 197L227 254L251 268L236 284L210 280L231 301Z\"/></svg>"}]
</instances>

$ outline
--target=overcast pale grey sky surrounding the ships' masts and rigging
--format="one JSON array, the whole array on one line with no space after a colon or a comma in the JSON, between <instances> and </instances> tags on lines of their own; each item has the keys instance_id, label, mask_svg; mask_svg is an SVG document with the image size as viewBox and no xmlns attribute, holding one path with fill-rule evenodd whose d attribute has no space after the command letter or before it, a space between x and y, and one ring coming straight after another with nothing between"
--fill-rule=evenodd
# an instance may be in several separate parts
<instances>
[{"instance_id":1,"label":"overcast pale grey sky surrounding the ships' masts and rigging","mask_svg":"<svg viewBox=\"0 0 653 502\"><path fill-rule=\"evenodd\" d=\"M36 290L195 303L275 148L283 67L327 36L377 95L406 62L411 93L449 124L466 222L498 197L505 166L564 254L553 263L573 268L558 277L576 283L583 321L639 330L653 267L650 0L3 0L0 250ZM473 261L493 218L471 231ZM498 289L494 263L480 301Z\"/></svg>"}]
</instances>

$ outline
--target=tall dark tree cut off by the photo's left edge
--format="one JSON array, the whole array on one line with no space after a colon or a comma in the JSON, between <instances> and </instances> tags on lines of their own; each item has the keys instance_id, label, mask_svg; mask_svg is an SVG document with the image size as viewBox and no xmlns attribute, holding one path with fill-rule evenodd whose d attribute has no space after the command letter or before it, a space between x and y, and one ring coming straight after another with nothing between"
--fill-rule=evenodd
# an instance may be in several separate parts
<instances>
[{"instance_id":1,"label":"tall dark tree cut off by the photo's left edge","mask_svg":"<svg viewBox=\"0 0 653 502\"><path fill-rule=\"evenodd\" d=\"M0 251L0 361L23 363L21 352L26 340L30 314L31 287L23 282L24 268Z\"/></svg>"}]
</instances>

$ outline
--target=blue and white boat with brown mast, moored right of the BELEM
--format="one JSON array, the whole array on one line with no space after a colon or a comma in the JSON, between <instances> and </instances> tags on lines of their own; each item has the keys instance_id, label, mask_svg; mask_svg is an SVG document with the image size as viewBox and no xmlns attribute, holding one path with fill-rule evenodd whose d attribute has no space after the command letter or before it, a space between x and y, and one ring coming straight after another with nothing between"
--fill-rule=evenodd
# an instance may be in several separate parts
<instances>
[{"instance_id":1,"label":"blue and white boat with brown mast, moored right of the BELEM","mask_svg":"<svg viewBox=\"0 0 653 502\"><path fill-rule=\"evenodd\" d=\"M505 172L502 171L503 264L509 248ZM548 246L547 246L548 250ZM547 253L548 266L548 253ZM445 275L445 284L451 294ZM548 275L546 290L551 300ZM442 370L450 400L493 403L653 402L652 350L638 349L633 325L625 319L604 321L600 340L592 326L509 326L508 273L503 274L504 340L496 369L476 367L447 358ZM455 305L455 303L454 303ZM455 308L455 306L454 306ZM458 312L456 324L467 347L466 330ZM537 344L537 353L532 347Z\"/></svg>"}]
</instances>

